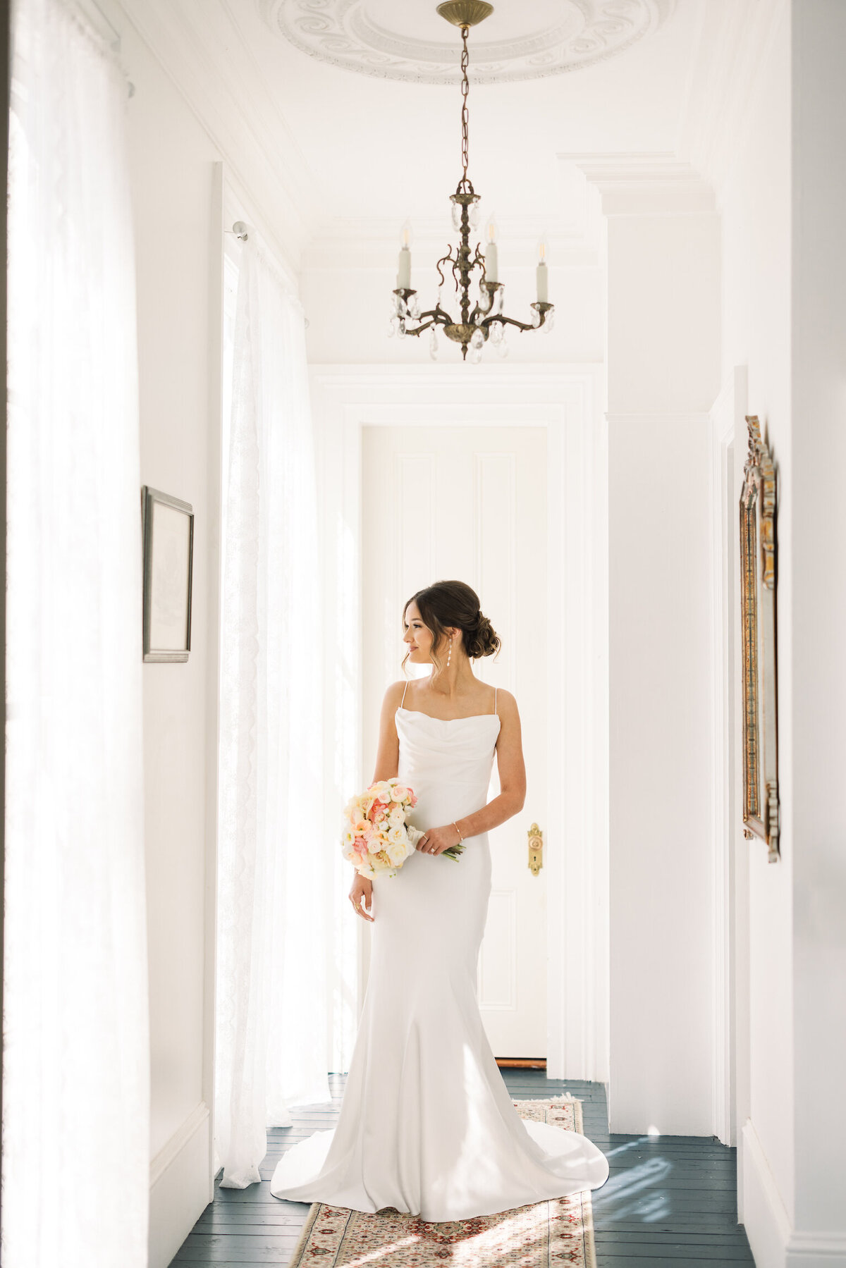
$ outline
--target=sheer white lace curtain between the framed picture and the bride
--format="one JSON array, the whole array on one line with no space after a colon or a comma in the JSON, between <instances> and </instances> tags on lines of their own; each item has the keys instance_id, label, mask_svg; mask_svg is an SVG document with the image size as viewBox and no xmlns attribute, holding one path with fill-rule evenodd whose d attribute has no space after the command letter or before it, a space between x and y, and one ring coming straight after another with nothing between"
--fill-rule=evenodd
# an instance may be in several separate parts
<instances>
[{"instance_id":1,"label":"sheer white lace curtain between the framed picture and the bride","mask_svg":"<svg viewBox=\"0 0 846 1268\"><path fill-rule=\"evenodd\" d=\"M303 312L242 245L221 625L216 1149L257 1181L265 1126L329 1099L330 865L321 615Z\"/></svg>"}]
</instances>

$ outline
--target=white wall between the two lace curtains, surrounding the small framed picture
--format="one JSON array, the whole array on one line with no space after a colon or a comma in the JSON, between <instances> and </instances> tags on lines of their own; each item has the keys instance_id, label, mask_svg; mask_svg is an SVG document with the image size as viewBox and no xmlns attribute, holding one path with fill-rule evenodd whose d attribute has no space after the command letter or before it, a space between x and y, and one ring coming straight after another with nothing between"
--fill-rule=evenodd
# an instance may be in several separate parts
<instances>
[{"instance_id":1,"label":"white wall between the two lace curtains, surrounding the small framed picture","mask_svg":"<svg viewBox=\"0 0 846 1268\"><path fill-rule=\"evenodd\" d=\"M167 1264L212 1196L208 1044L217 664L219 176L214 146L117 5L134 85L141 478L194 508L192 650L145 664L151 1008L150 1263Z\"/></svg>"}]
</instances>

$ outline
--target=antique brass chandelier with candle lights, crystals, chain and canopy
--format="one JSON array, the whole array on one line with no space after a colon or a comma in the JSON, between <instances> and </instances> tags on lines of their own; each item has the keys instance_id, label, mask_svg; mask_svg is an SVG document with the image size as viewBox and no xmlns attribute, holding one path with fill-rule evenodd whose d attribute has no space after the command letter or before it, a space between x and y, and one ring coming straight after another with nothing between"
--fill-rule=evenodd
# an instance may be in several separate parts
<instances>
[{"instance_id":1,"label":"antique brass chandelier with candle lights, crystals, chain and canopy","mask_svg":"<svg viewBox=\"0 0 846 1268\"><path fill-rule=\"evenodd\" d=\"M446 255L438 261L438 299L434 308L420 311L417 292L411 288L411 230L405 224L402 231L402 246L400 249L400 266L397 273L397 289L393 292L391 304L389 333L403 339L406 335L429 333L429 350L433 360L438 356L438 327L455 344L460 344L462 359L467 360L467 350L471 351L471 361L482 360L482 349L490 339L501 355L507 355L505 342L505 327L516 326L519 331L538 330L540 326L552 327L553 304L548 302L548 275L547 275L547 247L545 242L539 243L539 257L537 268L538 299L531 304L534 316L529 322L515 321L502 312L505 288L498 279L498 259L496 242L496 224L491 219L487 226L487 243L485 255L476 243L471 251L471 230L478 226L479 194L473 189L473 181L467 175L468 167L468 123L467 95L469 82L467 67L469 65L469 52L467 37L471 27L477 25L493 13L493 5L485 0L449 0L438 5L438 13L462 32L462 179L454 194L449 195L453 204L453 227L460 232L460 245L450 245ZM441 307L441 293L444 288L444 270L450 270L455 284L455 290L460 303L460 320L453 318ZM478 292L476 301L472 301L471 287L474 271L479 269Z\"/></svg>"}]
</instances>

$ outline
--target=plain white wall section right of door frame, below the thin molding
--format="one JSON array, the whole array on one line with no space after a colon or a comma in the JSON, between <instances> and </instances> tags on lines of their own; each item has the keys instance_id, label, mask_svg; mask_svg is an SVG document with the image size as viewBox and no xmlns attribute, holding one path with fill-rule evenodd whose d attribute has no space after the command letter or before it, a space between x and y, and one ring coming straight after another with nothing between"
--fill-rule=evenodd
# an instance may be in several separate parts
<instances>
[{"instance_id":1,"label":"plain white wall section right of door frame, below the thin molding","mask_svg":"<svg viewBox=\"0 0 846 1268\"><path fill-rule=\"evenodd\" d=\"M709 1136L706 418L609 418L609 507L610 1123Z\"/></svg>"}]
</instances>

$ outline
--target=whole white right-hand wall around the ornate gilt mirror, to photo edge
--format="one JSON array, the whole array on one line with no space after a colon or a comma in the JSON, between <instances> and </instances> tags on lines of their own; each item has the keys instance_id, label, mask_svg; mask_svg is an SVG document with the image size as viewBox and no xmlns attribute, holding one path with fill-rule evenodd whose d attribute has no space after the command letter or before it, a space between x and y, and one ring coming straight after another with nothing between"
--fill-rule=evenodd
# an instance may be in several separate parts
<instances>
[{"instance_id":1,"label":"whole white right-hand wall around the ornate gilt mirror, to photo edge","mask_svg":"<svg viewBox=\"0 0 846 1268\"><path fill-rule=\"evenodd\" d=\"M741 1217L758 1268L835 1268L846 1264L846 842L831 795L846 762L846 588L832 568L846 459L846 10L791 0L772 23L722 194L723 366L748 365L748 412L779 481L781 860L736 842ZM738 436L738 468L745 450Z\"/></svg>"}]
</instances>

